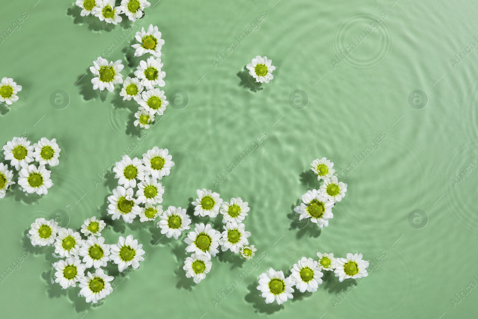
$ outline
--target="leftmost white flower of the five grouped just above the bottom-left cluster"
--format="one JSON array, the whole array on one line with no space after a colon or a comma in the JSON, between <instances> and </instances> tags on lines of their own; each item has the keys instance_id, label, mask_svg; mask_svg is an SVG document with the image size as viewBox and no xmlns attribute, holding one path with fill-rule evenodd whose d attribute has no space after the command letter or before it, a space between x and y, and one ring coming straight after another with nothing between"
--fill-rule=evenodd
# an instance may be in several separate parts
<instances>
[{"instance_id":1,"label":"leftmost white flower of the five grouped just above the bottom-left cluster","mask_svg":"<svg viewBox=\"0 0 478 319\"><path fill-rule=\"evenodd\" d=\"M140 201L133 197L132 188L124 188L118 186L113 189L113 195L108 197L108 214L113 215L112 220L123 218L127 223L132 223L136 215L141 213L141 208L138 206Z\"/></svg>"}]
</instances>

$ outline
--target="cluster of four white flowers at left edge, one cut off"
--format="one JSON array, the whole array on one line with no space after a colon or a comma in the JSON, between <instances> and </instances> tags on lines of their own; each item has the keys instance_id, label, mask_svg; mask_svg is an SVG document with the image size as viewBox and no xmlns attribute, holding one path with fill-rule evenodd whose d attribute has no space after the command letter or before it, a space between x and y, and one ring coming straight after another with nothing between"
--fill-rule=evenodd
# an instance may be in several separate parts
<instances>
[{"instance_id":1,"label":"cluster of four white flowers at left edge, one cut off","mask_svg":"<svg viewBox=\"0 0 478 319\"><path fill-rule=\"evenodd\" d=\"M6 161L10 160L11 167L18 171L18 185L27 196L33 193L47 194L53 182L50 179L51 171L45 165L58 165L61 149L56 139L50 141L46 137L33 145L30 143L25 137L14 137L3 145L3 154ZM30 164L33 160L39 165ZM9 170L7 164L0 163L0 198L4 198L8 187L15 184L12 179L13 170Z\"/></svg>"}]
</instances>

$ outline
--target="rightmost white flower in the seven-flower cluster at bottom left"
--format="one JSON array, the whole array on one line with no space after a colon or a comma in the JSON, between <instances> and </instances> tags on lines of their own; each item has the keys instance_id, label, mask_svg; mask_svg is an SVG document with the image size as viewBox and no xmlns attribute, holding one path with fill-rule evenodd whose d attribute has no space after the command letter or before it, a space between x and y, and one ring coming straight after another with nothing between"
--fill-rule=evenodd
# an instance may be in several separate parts
<instances>
[{"instance_id":1,"label":"rightmost white flower in the seven-flower cluster at bottom left","mask_svg":"<svg viewBox=\"0 0 478 319\"><path fill-rule=\"evenodd\" d=\"M138 240L133 240L133 235L120 236L117 244L111 245L110 260L118 265L120 272L128 268L129 265L134 269L140 267L140 262L144 260L142 257L145 252L142 250L143 244L138 244Z\"/></svg>"}]
</instances>

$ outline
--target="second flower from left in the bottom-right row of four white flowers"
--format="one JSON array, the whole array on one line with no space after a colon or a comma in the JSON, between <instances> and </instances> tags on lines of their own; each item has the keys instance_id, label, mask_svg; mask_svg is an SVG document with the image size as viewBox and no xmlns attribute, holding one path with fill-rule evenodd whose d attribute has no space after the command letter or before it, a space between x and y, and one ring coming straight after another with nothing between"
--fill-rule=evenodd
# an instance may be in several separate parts
<instances>
[{"instance_id":1,"label":"second flower from left in the bottom-right row of four white flowers","mask_svg":"<svg viewBox=\"0 0 478 319\"><path fill-rule=\"evenodd\" d=\"M322 284L322 276L317 261L312 258L302 257L291 269L291 278L295 283L295 288L304 293L317 291Z\"/></svg>"}]
</instances>

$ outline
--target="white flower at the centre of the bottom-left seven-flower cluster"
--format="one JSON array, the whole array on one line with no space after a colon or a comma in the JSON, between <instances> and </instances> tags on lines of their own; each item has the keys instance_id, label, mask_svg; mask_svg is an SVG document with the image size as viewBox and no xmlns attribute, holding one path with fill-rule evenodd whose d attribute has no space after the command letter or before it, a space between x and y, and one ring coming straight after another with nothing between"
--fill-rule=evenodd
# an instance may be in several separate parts
<instances>
[{"instance_id":1,"label":"white flower at the centre of the bottom-left seven-flower cluster","mask_svg":"<svg viewBox=\"0 0 478 319\"><path fill-rule=\"evenodd\" d=\"M109 261L110 245L105 244L104 237L89 236L81 242L78 255L83 257L83 263L90 267L105 267Z\"/></svg>"}]
</instances>

